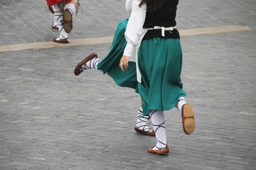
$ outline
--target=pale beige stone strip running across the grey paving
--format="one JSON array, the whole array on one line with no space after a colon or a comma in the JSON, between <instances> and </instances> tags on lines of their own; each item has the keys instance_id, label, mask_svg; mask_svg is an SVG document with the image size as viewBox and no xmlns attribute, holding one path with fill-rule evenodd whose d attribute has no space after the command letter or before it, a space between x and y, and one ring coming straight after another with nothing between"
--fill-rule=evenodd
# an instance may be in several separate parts
<instances>
[{"instance_id":1,"label":"pale beige stone strip running across the grey paving","mask_svg":"<svg viewBox=\"0 0 256 170\"><path fill-rule=\"evenodd\" d=\"M249 31L249 30L250 28L248 26L230 25L230 26L186 29L186 30L179 30L179 32L180 32L180 37L183 37L183 36L192 36L192 35L218 34L218 33L225 33L225 32ZM12 52L12 51L23 51L23 50L34 50L34 49L45 49L45 48L70 47L70 46L79 46L79 45L104 44L104 43L111 43L112 41L113 41L113 36L74 39L74 40L70 40L70 43L67 43L67 44L48 41L48 42L32 42L32 43L22 43L22 44L12 44L12 45L0 45L0 53Z\"/></svg>"}]
</instances>

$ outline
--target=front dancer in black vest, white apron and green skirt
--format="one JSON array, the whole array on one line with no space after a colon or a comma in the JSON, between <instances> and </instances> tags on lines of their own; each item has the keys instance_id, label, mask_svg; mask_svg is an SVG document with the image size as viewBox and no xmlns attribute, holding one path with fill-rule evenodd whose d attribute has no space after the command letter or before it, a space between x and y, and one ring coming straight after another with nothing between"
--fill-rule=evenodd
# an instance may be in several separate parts
<instances>
[{"instance_id":1,"label":"front dancer in black vest, white apron and green skirt","mask_svg":"<svg viewBox=\"0 0 256 170\"><path fill-rule=\"evenodd\" d=\"M157 144L149 153L168 154L163 111L176 107L182 116L183 130L192 134L195 119L186 104L180 79L182 51L176 26L178 0L133 0L125 31L127 45L119 67L130 69L128 62L137 46L138 91L143 99L143 115L149 115ZM129 67L129 68L128 68Z\"/></svg>"}]
</instances>

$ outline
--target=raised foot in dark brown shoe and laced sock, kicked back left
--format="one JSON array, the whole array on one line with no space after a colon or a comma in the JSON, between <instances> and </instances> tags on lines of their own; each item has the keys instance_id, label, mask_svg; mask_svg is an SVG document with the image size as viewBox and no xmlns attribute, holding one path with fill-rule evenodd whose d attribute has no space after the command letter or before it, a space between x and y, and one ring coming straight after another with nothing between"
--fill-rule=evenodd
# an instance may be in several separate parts
<instances>
[{"instance_id":1,"label":"raised foot in dark brown shoe and laced sock, kicked back left","mask_svg":"<svg viewBox=\"0 0 256 170\"><path fill-rule=\"evenodd\" d=\"M98 58L97 54L93 53L87 56L83 61L81 61L75 68L74 74L78 76L81 74L82 71L95 68L96 65L101 61L101 59Z\"/></svg>"}]
</instances>

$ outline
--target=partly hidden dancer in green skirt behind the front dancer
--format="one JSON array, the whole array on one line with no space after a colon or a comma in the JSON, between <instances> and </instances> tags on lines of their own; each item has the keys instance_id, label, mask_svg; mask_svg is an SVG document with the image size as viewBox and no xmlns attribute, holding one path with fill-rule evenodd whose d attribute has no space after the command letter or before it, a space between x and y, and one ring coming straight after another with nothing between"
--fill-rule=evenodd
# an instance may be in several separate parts
<instances>
[{"instance_id":1,"label":"partly hidden dancer in green skirt behind the front dancer","mask_svg":"<svg viewBox=\"0 0 256 170\"><path fill-rule=\"evenodd\" d=\"M128 11L131 11L131 2L132 0L127 0L126 2L126 8ZM125 45L127 44L125 40L125 30L127 23L128 20L122 20L117 26L111 50L107 57L104 59L99 59L97 54L90 54L76 66L74 71L76 76L78 76L84 70L97 69L101 70L104 74L107 73L110 77L113 78L116 84L121 87L128 87L133 89L138 88L136 63L129 62L130 68L127 71L121 71L119 68L119 61L122 58ZM138 89L136 91L138 91ZM149 136L155 136L154 130L149 128L146 123L148 119L149 116L143 116L143 109L141 105L137 114L137 123L134 129L136 132Z\"/></svg>"}]
</instances>

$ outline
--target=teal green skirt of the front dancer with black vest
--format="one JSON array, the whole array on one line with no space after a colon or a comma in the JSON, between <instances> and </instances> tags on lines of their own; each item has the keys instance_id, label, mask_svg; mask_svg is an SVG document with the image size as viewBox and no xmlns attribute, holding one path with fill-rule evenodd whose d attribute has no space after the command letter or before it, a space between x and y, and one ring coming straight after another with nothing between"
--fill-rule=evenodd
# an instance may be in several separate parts
<instances>
[{"instance_id":1,"label":"teal green skirt of the front dancer with black vest","mask_svg":"<svg viewBox=\"0 0 256 170\"><path fill-rule=\"evenodd\" d=\"M152 110L171 110L186 93L180 79L182 50L179 39L154 38L141 42L138 51L143 115Z\"/></svg>"}]
</instances>

